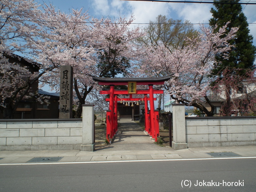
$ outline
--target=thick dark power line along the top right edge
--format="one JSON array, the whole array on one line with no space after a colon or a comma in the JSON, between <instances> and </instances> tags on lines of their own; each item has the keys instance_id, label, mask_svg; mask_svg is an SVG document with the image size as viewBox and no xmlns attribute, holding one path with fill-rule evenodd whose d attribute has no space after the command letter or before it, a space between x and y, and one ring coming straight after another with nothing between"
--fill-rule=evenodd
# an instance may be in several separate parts
<instances>
[{"instance_id":1,"label":"thick dark power line along the top right edge","mask_svg":"<svg viewBox=\"0 0 256 192\"><path fill-rule=\"evenodd\" d=\"M230 2L229 0L224 0L224 1L202 1L202 0L196 0L196 1L170 1L170 0L120 0L120 1L147 1L147 2L166 2L166 3L208 3L208 4L246 4L246 5L256 5L256 2L253 1L252 3L250 2Z\"/></svg>"}]
</instances>

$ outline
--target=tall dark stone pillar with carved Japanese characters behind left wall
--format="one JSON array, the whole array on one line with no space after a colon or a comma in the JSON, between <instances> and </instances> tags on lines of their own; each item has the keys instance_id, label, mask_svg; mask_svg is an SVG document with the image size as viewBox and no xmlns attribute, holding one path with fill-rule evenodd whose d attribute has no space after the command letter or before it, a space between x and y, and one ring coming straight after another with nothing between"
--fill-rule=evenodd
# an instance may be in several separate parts
<instances>
[{"instance_id":1,"label":"tall dark stone pillar with carved Japanese characters behind left wall","mask_svg":"<svg viewBox=\"0 0 256 192\"><path fill-rule=\"evenodd\" d=\"M60 119L72 118L73 108L73 68L60 66Z\"/></svg>"}]
</instances>

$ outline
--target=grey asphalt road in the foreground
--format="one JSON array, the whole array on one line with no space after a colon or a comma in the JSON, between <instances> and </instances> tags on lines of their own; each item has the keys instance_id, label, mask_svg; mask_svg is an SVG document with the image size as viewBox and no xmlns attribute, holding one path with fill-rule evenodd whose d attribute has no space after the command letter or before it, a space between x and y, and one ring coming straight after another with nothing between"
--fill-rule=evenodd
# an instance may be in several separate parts
<instances>
[{"instance_id":1,"label":"grey asphalt road in the foreground","mask_svg":"<svg viewBox=\"0 0 256 192\"><path fill-rule=\"evenodd\" d=\"M0 165L0 192L252 192L255 165L255 158Z\"/></svg>"}]
</instances>

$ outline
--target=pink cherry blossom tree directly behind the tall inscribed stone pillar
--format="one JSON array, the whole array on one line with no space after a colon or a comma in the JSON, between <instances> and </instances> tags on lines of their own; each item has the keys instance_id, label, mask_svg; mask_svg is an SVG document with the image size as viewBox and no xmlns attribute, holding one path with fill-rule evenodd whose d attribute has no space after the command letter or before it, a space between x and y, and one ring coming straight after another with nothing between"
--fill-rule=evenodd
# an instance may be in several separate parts
<instances>
[{"instance_id":1,"label":"pink cherry blossom tree directly behind the tall inscribed stone pillar","mask_svg":"<svg viewBox=\"0 0 256 192\"><path fill-rule=\"evenodd\" d=\"M49 84L52 90L60 88L60 66L70 65L74 72L74 96L79 100L76 117L81 116L82 104L92 90L94 82L90 75L96 72L96 52L92 47L92 30L88 26L87 12L72 10L69 14L56 10L50 4L44 4L44 14L37 24L46 29L38 33L38 41L32 42L38 47L38 60L55 66L41 78L42 85Z\"/></svg>"}]
</instances>

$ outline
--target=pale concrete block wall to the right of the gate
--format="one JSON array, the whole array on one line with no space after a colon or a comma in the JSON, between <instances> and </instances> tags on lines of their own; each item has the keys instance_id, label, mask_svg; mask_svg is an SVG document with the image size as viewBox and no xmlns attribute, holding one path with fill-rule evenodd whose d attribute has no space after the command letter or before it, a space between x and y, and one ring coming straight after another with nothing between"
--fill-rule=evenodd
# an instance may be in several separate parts
<instances>
[{"instance_id":1,"label":"pale concrete block wall to the right of the gate","mask_svg":"<svg viewBox=\"0 0 256 192\"><path fill-rule=\"evenodd\" d=\"M188 147L256 145L256 117L186 118Z\"/></svg>"}]
</instances>

